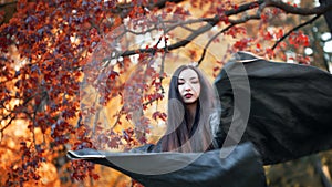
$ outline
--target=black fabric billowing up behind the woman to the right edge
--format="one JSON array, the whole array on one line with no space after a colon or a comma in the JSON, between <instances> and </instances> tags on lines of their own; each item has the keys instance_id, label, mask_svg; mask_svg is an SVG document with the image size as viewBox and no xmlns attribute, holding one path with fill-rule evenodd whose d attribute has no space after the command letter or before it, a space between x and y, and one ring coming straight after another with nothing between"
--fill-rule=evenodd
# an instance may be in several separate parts
<instances>
[{"instance_id":1,"label":"black fabric billowing up behind the woman to the right edge","mask_svg":"<svg viewBox=\"0 0 332 187\"><path fill-rule=\"evenodd\" d=\"M332 147L330 73L238 52L221 70L215 85L222 108L217 134L220 146L236 144L238 138L252 142L266 165ZM241 98L248 94L250 100L243 102ZM243 132L241 125L247 125Z\"/></svg>"}]
</instances>

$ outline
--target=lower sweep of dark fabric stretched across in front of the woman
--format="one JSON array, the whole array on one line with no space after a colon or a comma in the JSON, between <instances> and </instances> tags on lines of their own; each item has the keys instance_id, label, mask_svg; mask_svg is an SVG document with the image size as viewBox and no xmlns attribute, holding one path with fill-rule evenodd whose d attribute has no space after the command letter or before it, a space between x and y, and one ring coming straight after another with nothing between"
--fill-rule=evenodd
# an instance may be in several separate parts
<instances>
[{"instance_id":1,"label":"lower sweep of dark fabric stretched across in front of the woman","mask_svg":"<svg viewBox=\"0 0 332 187\"><path fill-rule=\"evenodd\" d=\"M259 153L251 143L235 147L226 158L220 149L206 153L110 153L69 150L71 159L112 167L145 187L266 187Z\"/></svg>"}]
</instances>

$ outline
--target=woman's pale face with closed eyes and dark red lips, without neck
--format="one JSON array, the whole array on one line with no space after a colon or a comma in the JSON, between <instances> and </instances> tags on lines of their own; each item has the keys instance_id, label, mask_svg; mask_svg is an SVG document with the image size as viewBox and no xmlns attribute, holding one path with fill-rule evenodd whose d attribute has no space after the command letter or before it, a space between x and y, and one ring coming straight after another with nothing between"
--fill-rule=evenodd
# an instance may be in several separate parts
<instances>
[{"instance_id":1,"label":"woman's pale face with closed eyes and dark red lips, without neck","mask_svg":"<svg viewBox=\"0 0 332 187\"><path fill-rule=\"evenodd\" d=\"M183 70L177 80L178 92L186 104L195 103L199 97L200 83L197 73L191 69Z\"/></svg>"}]
</instances>

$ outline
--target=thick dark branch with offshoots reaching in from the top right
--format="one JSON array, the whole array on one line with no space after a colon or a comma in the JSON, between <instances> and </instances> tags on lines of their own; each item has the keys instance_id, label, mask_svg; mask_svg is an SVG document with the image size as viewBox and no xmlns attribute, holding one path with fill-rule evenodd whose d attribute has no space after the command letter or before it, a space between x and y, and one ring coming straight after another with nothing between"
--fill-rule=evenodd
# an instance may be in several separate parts
<instances>
[{"instance_id":1,"label":"thick dark branch with offshoots reaching in from the top right","mask_svg":"<svg viewBox=\"0 0 332 187\"><path fill-rule=\"evenodd\" d=\"M288 3L283 3L282 1L277 1L277 0L259 0L259 1L253 1L253 2L249 2L249 3L245 3L242 6L240 6L238 9L232 9L232 10L228 10L225 11L225 15L230 17L234 14L238 14L241 12L245 12L247 10L257 8L259 6L259 10L257 12L256 15L250 15L250 17L245 17L243 19L240 20L229 20L229 22L231 23L231 25L235 24L240 24L243 22L247 22L249 20L252 19L260 19L260 12L263 8L266 7L274 7L274 8L279 8L281 10L283 10L287 13L294 13L294 14L300 14L300 15L312 15L312 14L317 14L317 17L314 17L313 19L309 20L305 23L302 23L295 28L293 28L291 31L289 31L286 35L283 35L279 41L276 42L276 44L272 46L272 49L276 49L277 45L284 40L291 32L312 23L313 21L315 21L322 13L332 10L332 4L329 6L320 6L320 7L315 7L312 9L307 9L307 8L297 8L293 6L290 6ZM185 28L186 24L190 24L190 23L198 23L198 22L207 22L208 24L203 25L200 28L198 28L197 30L191 30L191 33L184 40L178 41L177 43L174 43L172 45L167 46L167 51L172 51L181 46L186 46L188 43L190 43L194 39L196 39L197 37L199 37L200 34L209 31L214 25L218 24L221 21L221 15L216 15L214 18L203 18L203 19L197 19L197 20L188 20L188 21L184 21L184 22L178 22L175 23L173 25L170 25L167 31L172 31L177 27L183 27ZM209 40L209 42L207 43L207 45L204 49L203 52L203 56L199 59L198 64L203 61L203 59L205 58L205 53L206 50L208 48L208 45L211 43L212 40L215 40L217 38L217 35L219 35L220 33L225 32L227 29L229 29L230 27L226 28L225 30L220 31L219 33L217 33L215 37L212 37L211 40ZM186 29L186 28L185 28ZM188 29L187 29L188 30ZM190 30L188 30L190 31ZM139 53L155 53L158 51L164 51L162 49L155 49L155 48L147 48L147 49L138 49L138 50L128 50L125 51L124 53L122 53L123 56L127 56L127 55L133 55L136 54L137 52ZM107 58L108 59L108 58Z\"/></svg>"}]
</instances>

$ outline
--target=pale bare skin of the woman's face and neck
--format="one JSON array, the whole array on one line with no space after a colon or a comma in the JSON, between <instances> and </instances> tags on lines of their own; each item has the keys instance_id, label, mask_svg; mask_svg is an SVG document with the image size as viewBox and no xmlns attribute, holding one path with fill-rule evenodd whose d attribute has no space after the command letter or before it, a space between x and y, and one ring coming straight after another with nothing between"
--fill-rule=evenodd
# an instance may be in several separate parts
<instances>
[{"instance_id":1,"label":"pale bare skin of the woman's face and neck","mask_svg":"<svg viewBox=\"0 0 332 187\"><path fill-rule=\"evenodd\" d=\"M188 123L190 128L195 120L197 100L200 94L199 77L194 70L186 69L180 72L178 76L178 91L186 104L186 108L189 111Z\"/></svg>"}]
</instances>

